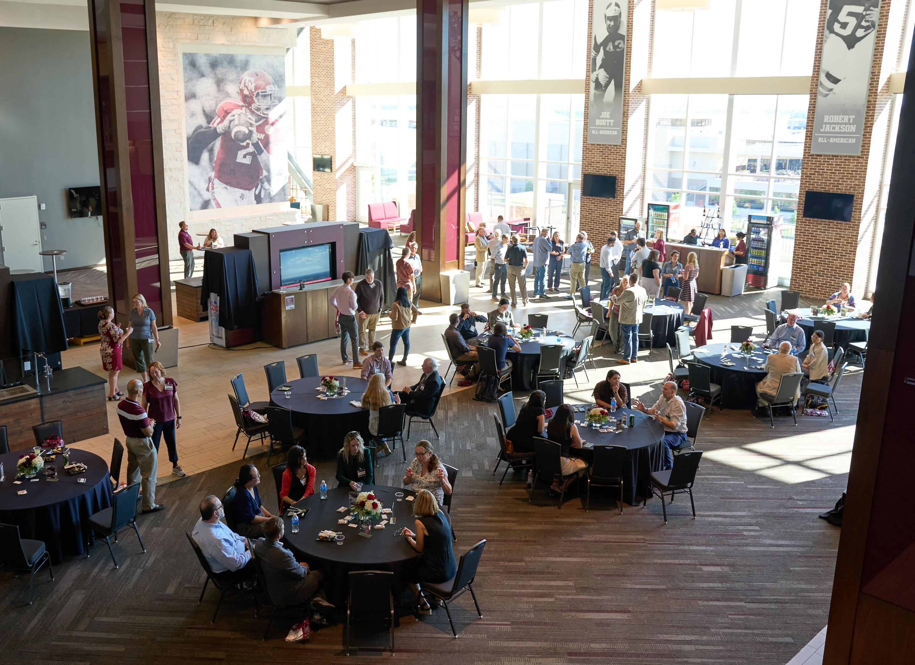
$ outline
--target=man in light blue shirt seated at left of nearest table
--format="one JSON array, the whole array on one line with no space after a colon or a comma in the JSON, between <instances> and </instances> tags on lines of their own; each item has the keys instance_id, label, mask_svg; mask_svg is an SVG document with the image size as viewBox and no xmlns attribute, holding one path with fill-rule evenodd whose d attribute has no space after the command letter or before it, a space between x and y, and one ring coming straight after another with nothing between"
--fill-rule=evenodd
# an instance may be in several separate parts
<instances>
[{"instance_id":1,"label":"man in light blue shirt seated at left of nearest table","mask_svg":"<svg viewBox=\"0 0 915 665\"><path fill-rule=\"evenodd\" d=\"M221 584L239 585L254 579L254 563L248 542L220 521L224 515L222 501L206 497L200 501L200 519L190 537Z\"/></svg>"}]
</instances>

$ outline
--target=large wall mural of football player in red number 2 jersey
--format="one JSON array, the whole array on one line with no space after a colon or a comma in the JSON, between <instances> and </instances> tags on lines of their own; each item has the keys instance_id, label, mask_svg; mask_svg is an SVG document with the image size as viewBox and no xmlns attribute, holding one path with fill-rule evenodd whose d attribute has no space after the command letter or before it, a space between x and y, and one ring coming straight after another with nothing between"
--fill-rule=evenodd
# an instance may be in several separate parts
<instances>
[{"instance_id":1,"label":"large wall mural of football player in red number 2 jersey","mask_svg":"<svg viewBox=\"0 0 915 665\"><path fill-rule=\"evenodd\" d=\"M184 54L191 210L288 199L282 56Z\"/></svg>"}]
</instances>

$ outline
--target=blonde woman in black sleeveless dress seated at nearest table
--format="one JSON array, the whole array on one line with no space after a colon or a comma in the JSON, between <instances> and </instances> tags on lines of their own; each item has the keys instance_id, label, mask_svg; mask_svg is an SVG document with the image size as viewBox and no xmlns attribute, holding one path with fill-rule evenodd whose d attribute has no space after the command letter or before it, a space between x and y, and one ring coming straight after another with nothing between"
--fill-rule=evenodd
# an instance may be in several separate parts
<instances>
[{"instance_id":1,"label":"blonde woman in black sleeveless dress seated at nearest table","mask_svg":"<svg viewBox=\"0 0 915 665\"><path fill-rule=\"evenodd\" d=\"M458 574L458 561L452 548L451 518L439 508L436 498L427 490L416 492L413 514L416 518L414 531L404 528L406 542L422 556L415 561L407 575L410 589L416 596L417 609L421 614L431 614L432 607L420 592L419 585L441 584Z\"/></svg>"}]
</instances>

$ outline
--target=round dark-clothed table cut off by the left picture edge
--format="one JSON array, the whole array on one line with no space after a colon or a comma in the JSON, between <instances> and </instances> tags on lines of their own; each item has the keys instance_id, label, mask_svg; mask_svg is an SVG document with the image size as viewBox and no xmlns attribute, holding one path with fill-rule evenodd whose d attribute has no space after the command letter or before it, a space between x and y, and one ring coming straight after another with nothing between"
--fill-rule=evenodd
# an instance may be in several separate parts
<instances>
[{"instance_id":1,"label":"round dark-clothed table cut off by the left picture edge","mask_svg":"<svg viewBox=\"0 0 915 665\"><path fill-rule=\"evenodd\" d=\"M108 465L102 457L85 450L70 448L70 462L83 462L89 469L76 476L68 476L63 470L63 457L53 462L58 469L59 480L48 482L44 469L38 472L38 482L20 478L16 480L16 461L28 450L16 450L0 455L6 479L0 483L0 522L16 524L19 535L34 541L43 541L51 557L51 563L63 563L65 556L76 556L85 552L91 529L89 516L112 505L112 484L108 476ZM86 478L85 483L77 478ZM17 492L25 489L27 494Z\"/></svg>"}]
</instances>

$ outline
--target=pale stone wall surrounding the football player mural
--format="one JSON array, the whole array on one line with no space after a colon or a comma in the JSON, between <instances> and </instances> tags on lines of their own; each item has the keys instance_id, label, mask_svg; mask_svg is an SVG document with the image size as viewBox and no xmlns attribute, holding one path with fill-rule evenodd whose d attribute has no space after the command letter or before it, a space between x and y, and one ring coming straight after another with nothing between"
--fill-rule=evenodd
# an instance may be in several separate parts
<instances>
[{"instance_id":1,"label":"pale stone wall surrounding the football player mural","mask_svg":"<svg viewBox=\"0 0 915 665\"><path fill-rule=\"evenodd\" d=\"M296 45L292 30L256 27L254 19L244 16L203 16L156 12L159 58L159 98L162 107L162 143L166 182L166 214L170 236L178 237L178 222L188 217L188 174L185 157L184 92L181 90L182 44L220 44L246 47L283 47ZM279 226L297 220L298 211L269 212L263 215L231 215L212 220L188 220L188 231L205 233L215 228L226 244L234 233ZM196 238L196 237L195 237ZM169 258L180 260L178 241L169 241Z\"/></svg>"}]
</instances>

